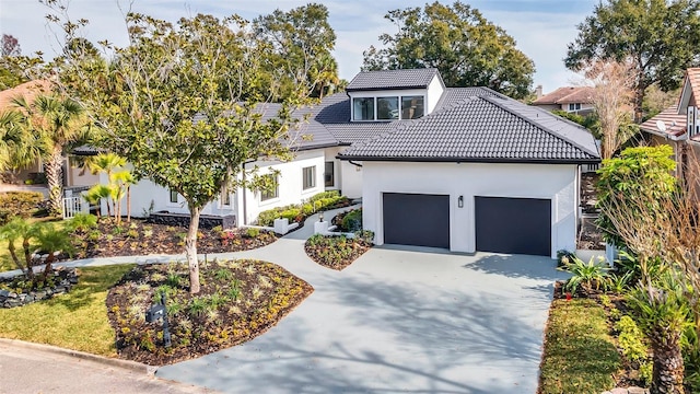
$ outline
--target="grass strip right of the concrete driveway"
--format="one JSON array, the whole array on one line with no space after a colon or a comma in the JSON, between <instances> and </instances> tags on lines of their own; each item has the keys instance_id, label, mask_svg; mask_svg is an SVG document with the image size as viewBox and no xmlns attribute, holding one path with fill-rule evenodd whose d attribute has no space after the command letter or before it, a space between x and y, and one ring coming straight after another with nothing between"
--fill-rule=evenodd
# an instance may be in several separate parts
<instances>
[{"instance_id":1,"label":"grass strip right of the concrete driveway","mask_svg":"<svg viewBox=\"0 0 700 394\"><path fill-rule=\"evenodd\" d=\"M555 300L540 369L541 394L602 393L615 387L622 361L605 310L592 300Z\"/></svg>"}]
</instances>

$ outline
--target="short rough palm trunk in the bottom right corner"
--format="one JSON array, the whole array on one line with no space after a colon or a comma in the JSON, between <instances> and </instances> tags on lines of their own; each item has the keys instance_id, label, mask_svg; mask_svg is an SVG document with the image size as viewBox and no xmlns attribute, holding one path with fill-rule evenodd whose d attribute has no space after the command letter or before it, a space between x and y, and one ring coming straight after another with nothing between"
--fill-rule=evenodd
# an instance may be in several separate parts
<instances>
[{"instance_id":1,"label":"short rough palm trunk in the bottom right corner","mask_svg":"<svg viewBox=\"0 0 700 394\"><path fill-rule=\"evenodd\" d=\"M680 333L667 327L656 329L651 337L654 351L652 394L684 394L684 363L680 352Z\"/></svg>"}]
</instances>

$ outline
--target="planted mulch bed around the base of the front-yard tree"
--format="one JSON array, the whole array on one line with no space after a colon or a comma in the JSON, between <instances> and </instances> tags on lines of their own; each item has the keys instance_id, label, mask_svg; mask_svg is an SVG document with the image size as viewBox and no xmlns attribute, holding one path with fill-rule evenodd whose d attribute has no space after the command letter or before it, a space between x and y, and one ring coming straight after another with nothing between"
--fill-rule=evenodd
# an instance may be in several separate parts
<instances>
[{"instance_id":1,"label":"planted mulch bed around the base of the front-yard tree","mask_svg":"<svg viewBox=\"0 0 700 394\"><path fill-rule=\"evenodd\" d=\"M240 259L200 265L201 291L188 291L186 264L136 267L109 290L107 309L120 358L163 366L250 340L275 326L313 292L311 285L271 263ZM172 346L162 321L144 312L166 293Z\"/></svg>"}]
</instances>

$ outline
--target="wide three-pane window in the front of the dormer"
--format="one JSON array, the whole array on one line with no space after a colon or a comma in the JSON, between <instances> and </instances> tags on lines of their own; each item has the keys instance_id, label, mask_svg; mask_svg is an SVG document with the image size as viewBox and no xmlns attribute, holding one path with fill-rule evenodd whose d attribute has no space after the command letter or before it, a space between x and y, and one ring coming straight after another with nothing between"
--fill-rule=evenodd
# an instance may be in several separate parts
<instances>
[{"instance_id":1,"label":"wide three-pane window in the front of the dormer","mask_svg":"<svg viewBox=\"0 0 700 394\"><path fill-rule=\"evenodd\" d=\"M417 119L425 113L424 102L422 95L354 97L352 120Z\"/></svg>"}]
</instances>

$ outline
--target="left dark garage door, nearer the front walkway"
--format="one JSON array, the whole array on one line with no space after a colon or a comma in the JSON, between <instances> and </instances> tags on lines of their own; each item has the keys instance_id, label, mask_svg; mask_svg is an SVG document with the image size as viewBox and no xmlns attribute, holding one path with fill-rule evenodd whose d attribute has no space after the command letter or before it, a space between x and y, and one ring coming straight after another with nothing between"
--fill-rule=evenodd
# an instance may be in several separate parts
<instances>
[{"instance_id":1,"label":"left dark garage door, nearer the front walkway","mask_svg":"<svg viewBox=\"0 0 700 394\"><path fill-rule=\"evenodd\" d=\"M384 243L450 247L450 196L384 194Z\"/></svg>"}]
</instances>

